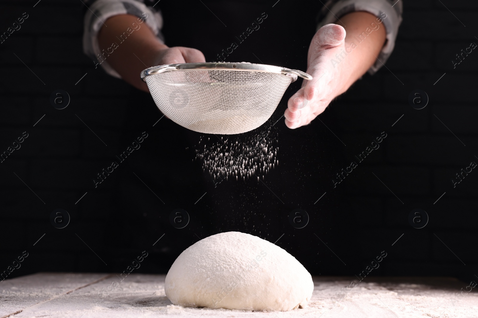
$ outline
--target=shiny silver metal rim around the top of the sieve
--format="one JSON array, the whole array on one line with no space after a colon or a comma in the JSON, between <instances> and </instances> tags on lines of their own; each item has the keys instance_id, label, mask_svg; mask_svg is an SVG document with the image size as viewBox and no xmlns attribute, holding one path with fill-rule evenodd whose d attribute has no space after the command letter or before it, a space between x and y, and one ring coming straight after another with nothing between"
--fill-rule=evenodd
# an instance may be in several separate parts
<instances>
[{"instance_id":1,"label":"shiny silver metal rim around the top of the sieve","mask_svg":"<svg viewBox=\"0 0 478 318\"><path fill-rule=\"evenodd\" d=\"M172 71L194 71L194 70L223 70L223 71L249 71L249 72L265 72L265 73L275 73L275 74L284 74L292 77L292 82L295 82L297 79L296 76L300 76L305 80L312 80L312 76L299 71L292 70L285 67L266 65L266 64L254 64L247 62L205 62L205 63L180 63L180 64L165 64L159 66L153 66L147 68L141 72L141 80L146 82L146 77L154 74L159 74L163 72L172 72ZM293 76L295 75L295 76Z\"/></svg>"}]
</instances>

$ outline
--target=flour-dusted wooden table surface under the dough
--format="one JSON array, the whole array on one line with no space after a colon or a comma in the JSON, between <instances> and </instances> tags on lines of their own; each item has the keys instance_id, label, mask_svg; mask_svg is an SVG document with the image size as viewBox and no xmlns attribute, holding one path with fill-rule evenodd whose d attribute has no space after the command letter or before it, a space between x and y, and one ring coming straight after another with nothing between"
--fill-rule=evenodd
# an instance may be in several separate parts
<instances>
[{"instance_id":1,"label":"flour-dusted wooden table surface under the dough","mask_svg":"<svg viewBox=\"0 0 478 318\"><path fill-rule=\"evenodd\" d=\"M164 294L164 277L131 274L121 281L117 274L38 273L6 279L0 281L0 318L478 318L478 286L467 288L469 284L451 277L365 277L362 281L357 277L313 277L309 306L286 312L175 306ZM118 286L110 287L113 281ZM348 291L352 281L358 285ZM98 293L108 290L111 292L100 301Z\"/></svg>"}]
</instances>

